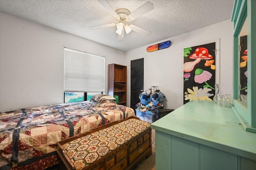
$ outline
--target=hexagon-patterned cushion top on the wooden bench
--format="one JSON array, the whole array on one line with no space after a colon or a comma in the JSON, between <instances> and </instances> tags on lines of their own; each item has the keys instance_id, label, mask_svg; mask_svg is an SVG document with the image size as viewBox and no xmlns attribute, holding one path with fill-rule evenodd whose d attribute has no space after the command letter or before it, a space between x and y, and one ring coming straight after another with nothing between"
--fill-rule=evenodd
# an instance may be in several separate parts
<instances>
[{"instance_id":1,"label":"hexagon-patterned cushion top on the wooden bench","mask_svg":"<svg viewBox=\"0 0 256 170\"><path fill-rule=\"evenodd\" d=\"M147 122L128 119L68 142L62 145L62 148L76 169L80 170L144 132L149 127L150 124Z\"/></svg>"}]
</instances>

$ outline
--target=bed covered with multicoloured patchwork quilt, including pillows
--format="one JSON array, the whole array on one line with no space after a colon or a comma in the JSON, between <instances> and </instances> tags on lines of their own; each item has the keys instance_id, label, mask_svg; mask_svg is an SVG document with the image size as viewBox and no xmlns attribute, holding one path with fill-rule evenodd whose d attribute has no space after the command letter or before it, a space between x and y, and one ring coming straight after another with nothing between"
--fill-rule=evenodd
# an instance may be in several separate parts
<instances>
[{"instance_id":1,"label":"bed covered with multicoloured patchwork quilt, including pillows","mask_svg":"<svg viewBox=\"0 0 256 170\"><path fill-rule=\"evenodd\" d=\"M114 101L99 95L90 101L0 112L0 170L54 166L56 142L135 116L133 109Z\"/></svg>"}]
</instances>

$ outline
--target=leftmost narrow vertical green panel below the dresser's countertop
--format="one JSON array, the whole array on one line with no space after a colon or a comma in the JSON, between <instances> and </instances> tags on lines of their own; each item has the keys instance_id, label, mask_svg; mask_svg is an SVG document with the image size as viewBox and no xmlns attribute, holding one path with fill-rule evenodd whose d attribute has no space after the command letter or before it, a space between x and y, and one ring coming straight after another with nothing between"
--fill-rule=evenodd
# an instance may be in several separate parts
<instances>
[{"instance_id":1,"label":"leftmost narrow vertical green panel below the dresser's countertop","mask_svg":"<svg viewBox=\"0 0 256 170\"><path fill-rule=\"evenodd\" d=\"M156 169L170 170L171 135L156 130Z\"/></svg>"}]
</instances>

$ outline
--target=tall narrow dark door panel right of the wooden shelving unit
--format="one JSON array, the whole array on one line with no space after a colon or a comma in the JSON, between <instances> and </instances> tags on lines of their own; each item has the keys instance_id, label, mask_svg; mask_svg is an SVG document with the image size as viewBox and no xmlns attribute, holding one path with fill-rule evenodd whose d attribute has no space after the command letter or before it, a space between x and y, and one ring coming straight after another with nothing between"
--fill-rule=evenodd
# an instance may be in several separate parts
<instances>
[{"instance_id":1,"label":"tall narrow dark door panel right of the wooden shelving unit","mask_svg":"<svg viewBox=\"0 0 256 170\"><path fill-rule=\"evenodd\" d=\"M135 111L135 105L140 102L139 95L144 88L144 58L131 61L131 108Z\"/></svg>"}]
</instances>

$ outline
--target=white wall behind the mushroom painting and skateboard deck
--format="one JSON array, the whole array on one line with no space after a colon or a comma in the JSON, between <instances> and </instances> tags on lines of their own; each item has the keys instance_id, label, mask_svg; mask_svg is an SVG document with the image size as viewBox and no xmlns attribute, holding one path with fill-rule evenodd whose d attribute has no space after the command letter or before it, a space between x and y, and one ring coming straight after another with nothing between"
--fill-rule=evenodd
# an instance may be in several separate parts
<instances>
[{"instance_id":1,"label":"white wall behind the mushroom painting and skateboard deck","mask_svg":"<svg viewBox=\"0 0 256 170\"><path fill-rule=\"evenodd\" d=\"M172 30L166 30L172 31ZM167 40L172 45L166 49L148 53L146 48L156 43L148 44L126 52L127 65L133 59L144 57L144 89L152 85L158 85L160 91L166 95L164 108L177 109L183 105L183 48L220 40L220 83L223 84L223 92L232 94L232 35L233 26L231 20L220 22L199 30L188 32ZM136 56L136 57L134 57ZM130 67L128 67L130 80ZM130 92L128 92L130 94ZM129 95L130 96L130 95ZM130 102L130 99L128 99Z\"/></svg>"}]
</instances>

